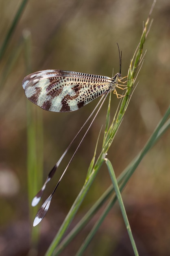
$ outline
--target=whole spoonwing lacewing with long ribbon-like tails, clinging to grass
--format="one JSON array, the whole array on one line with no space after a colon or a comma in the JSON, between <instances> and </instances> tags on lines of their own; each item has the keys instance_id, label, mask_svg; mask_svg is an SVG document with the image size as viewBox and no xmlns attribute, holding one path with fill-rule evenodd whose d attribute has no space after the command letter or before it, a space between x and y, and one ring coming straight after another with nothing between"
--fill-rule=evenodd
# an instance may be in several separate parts
<instances>
[{"instance_id":1,"label":"whole spoonwing lacewing with long ribbon-like tails, clinging to grass","mask_svg":"<svg viewBox=\"0 0 170 256\"><path fill-rule=\"evenodd\" d=\"M122 78L121 76L121 57L122 57L122 52L120 54L120 50L119 50L120 72L115 74L112 78L108 76L85 74L85 73L65 71L65 70L43 70L43 71L35 72L33 74L29 74L28 76L26 76L22 82L22 87L25 90L26 97L30 101L35 103L40 108L43 108L44 110L49 110L54 112L71 112L71 111L78 110L79 108L83 107L84 105L88 104L89 102L93 101L94 99L96 99L101 95L102 97L107 96L107 94L111 91L113 91L113 93L116 94L118 98L121 98L124 96L122 96L121 94L118 94L116 91L116 88L120 88L122 90L127 88L126 85L119 84L119 83L126 82L126 81L123 82L124 77ZM100 105L100 108L104 103L105 99L106 97L103 99ZM96 108L99 106L101 100L102 99L100 99L100 101L98 102ZM89 118L85 121L85 124L93 115L96 108L93 110ZM98 114L100 108L98 109L96 115ZM94 119L89 125L87 131L92 126ZM42 194L46 188L46 184L53 177L55 171L57 170L59 164L61 163L61 160L63 159L65 154L68 152L68 149L70 148L70 146L72 145L72 143L74 142L74 140L76 139L80 131L83 129L85 124L78 131L78 133L76 134L76 136L74 137L74 139L72 140L68 148L60 157L57 164L55 164L55 166L52 168L52 170L48 174L48 177L44 185L42 186L40 191L37 193L37 195L33 198L32 206L37 205L38 202L40 201ZM85 132L85 135L87 134L87 131ZM85 135L83 136L83 139ZM72 158L70 159L70 162L72 161L74 155L76 154L83 139L78 144L78 147L76 148ZM51 195L46 199L44 204L39 209L35 217L33 226L36 226L46 215L48 208L50 206L52 195L54 194L55 190L57 189L57 186L59 185L61 179L63 178L63 175L68 169L70 162L68 163L65 170L63 171L63 174L61 175Z\"/></svg>"}]
</instances>

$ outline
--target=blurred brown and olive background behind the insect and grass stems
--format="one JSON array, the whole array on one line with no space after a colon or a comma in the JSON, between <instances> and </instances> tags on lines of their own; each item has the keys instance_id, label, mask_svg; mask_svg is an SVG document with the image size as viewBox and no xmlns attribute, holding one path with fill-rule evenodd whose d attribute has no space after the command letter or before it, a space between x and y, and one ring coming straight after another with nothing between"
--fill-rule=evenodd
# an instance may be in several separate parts
<instances>
[{"instance_id":1,"label":"blurred brown and olive background behind the insect and grass stems","mask_svg":"<svg viewBox=\"0 0 170 256\"><path fill-rule=\"evenodd\" d=\"M0 1L0 45L21 2ZM98 100L76 112L48 112L31 106L33 103L26 99L22 88L24 76L28 72L61 69L111 77L113 68L114 74L119 72L116 42L122 50L122 76L126 76L152 3L152 0L27 2L0 62L1 255L45 254L84 184L107 111L108 101L83 141L54 195L46 218L40 224L37 250L31 249L33 245L27 182L26 109L33 108L43 118L44 177L38 177L41 182L45 180ZM142 149L170 102L170 1L157 0L152 17L153 25L144 47L147 52L137 78L139 83L108 153L116 175ZM26 64L26 43L23 37L27 36L31 49L30 63ZM112 119L119 101L112 94ZM103 131L104 128L102 134ZM69 150L51 184L47 186L43 201L52 192L68 164L76 143ZM102 136L99 149L101 144ZM70 229L110 184L107 168L103 165ZM39 185L38 189L40 187ZM122 196L139 255L170 255L170 132L166 132L143 159ZM98 216L99 213L61 255L76 254ZM118 204L110 211L84 255L133 255Z\"/></svg>"}]
</instances>

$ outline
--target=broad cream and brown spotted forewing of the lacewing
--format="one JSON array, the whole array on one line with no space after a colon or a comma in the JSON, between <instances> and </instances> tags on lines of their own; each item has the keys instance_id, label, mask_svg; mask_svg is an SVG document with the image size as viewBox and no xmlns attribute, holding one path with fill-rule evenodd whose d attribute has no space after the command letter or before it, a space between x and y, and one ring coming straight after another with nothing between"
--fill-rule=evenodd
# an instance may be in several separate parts
<instances>
[{"instance_id":1,"label":"broad cream and brown spotted forewing of the lacewing","mask_svg":"<svg viewBox=\"0 0 170 256\"><path fill-rule=\"evenodd\" d=\"M35 72L24 78L22 86L30 101L54 112L77 110L115 89L110 77L65 70Z\"/></svg>"}]
</instances>

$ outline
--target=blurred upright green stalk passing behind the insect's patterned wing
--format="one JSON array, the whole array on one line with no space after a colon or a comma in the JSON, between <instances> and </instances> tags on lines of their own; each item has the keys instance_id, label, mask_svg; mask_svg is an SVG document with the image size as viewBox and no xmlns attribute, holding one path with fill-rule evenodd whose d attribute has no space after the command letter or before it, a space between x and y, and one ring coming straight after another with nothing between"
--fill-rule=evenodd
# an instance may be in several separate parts
<instances>
[{"instance_id":1,"label":"blurred upright green stalk passing behind the insect's patterned wing","mask_svg":"<svg viewBox=\"0 0 170 256\"><path fill-rule=\"evenodd\" d=\"M24 54L26 64L26 74L31 73L31 34L29 31L23 32ZM31 226L38 210L31 206L31 201L42 184L43 173L43 120L39 109L27 101L27 175L28 175L28 202ZM31 230L31 244L37 246L39 238L39 227Z\"/></svg>"}]
</instances>

